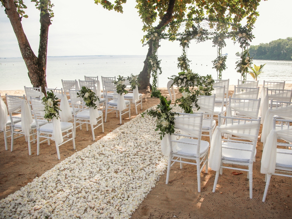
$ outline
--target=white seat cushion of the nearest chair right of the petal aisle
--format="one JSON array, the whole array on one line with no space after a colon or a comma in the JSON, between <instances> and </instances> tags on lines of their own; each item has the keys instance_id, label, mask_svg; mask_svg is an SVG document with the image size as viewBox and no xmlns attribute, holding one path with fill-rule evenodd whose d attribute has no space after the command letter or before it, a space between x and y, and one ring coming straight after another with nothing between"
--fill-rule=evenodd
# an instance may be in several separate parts
<instances>
[{"instance_id":1,"label":"white seat cushion of the nearest chair right of the petal aisle","mask_svg":"<svg viewBox=\"0 0 292 219\"><path fill-rule=\"evenodd\" d=\"M197 139L192 139L192 138L181 138L179 141L180 142L198 143ZM176 152L175 154L183 155L183 156L187 156L187 157L196 157L197 145L178 143L178 147L181 148L181 150ZM200 157L203 156L208 150L209 150L209 142L201 140Z\"/></svg>"}]
</instances>

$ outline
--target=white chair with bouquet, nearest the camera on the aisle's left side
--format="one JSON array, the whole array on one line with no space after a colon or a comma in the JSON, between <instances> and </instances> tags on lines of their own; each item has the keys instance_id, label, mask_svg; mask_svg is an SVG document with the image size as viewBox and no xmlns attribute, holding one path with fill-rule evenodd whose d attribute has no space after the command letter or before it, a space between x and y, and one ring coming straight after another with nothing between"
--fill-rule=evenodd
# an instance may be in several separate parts
<instances>
[{"instance_id":1,"label":"white chair with bouquet, nearest the camera on the aisle's left side","mask_svg":"<svg viewBox=\"0 0 292 219\"><path fill-rule=\"evenodd\" d=\"M59 160L61 159L60 151L59 151L59 147L61 145L72 140L73 149L75 150L73 124L70 122L61 122L60 119L57 119L55 117L53 118L53 120L49 122L48 120L44 119L45 106L41 103L41 100L31 97L30 102L32 103L32 112L34 114L34 121L36 123L37 155L39 155L40 143L48 141L48 145L50 145L50 139L55 141L57 155L58 155ZM43 124L44 122L46 124L40 126L40 124ZM62 133L65 133L65 135L63 135ZM72 138L69 138L69 135L72 135ZM45 138L45 140L40 141L40 138Z\"/></svg>"}]
</instances>

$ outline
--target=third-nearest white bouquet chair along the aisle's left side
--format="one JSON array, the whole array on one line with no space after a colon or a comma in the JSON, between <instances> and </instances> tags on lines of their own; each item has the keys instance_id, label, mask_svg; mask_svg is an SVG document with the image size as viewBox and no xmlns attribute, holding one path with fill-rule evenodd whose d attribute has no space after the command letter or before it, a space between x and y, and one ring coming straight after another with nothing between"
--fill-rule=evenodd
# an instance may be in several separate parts
<instances>
[{"instance_id":1,"label":"third-nearest white bouquet chair along the aisle's left side","mask_svg":"<svg viewBox=\"0 0 292 219\"><path fill-rule=\"evenodd\" d=\"M105 122L107 121L107 114L113 111L116 111L117 117L118 112L120 114L120 124L122 124L122 115L129 112L129 119L131 119L131 102L129 100L124 99L124 94L119 95L113 95L112 100L109 100L108 97L108 91L113 93L116 90L116 87L112 84L112 82L103 81L104 89L105 89L105 98L106 98L106 104L105 104ZM127 109L127 111L125 111ZM108 110L110 110L108 112Z\"/></svg>"}]
</instances>

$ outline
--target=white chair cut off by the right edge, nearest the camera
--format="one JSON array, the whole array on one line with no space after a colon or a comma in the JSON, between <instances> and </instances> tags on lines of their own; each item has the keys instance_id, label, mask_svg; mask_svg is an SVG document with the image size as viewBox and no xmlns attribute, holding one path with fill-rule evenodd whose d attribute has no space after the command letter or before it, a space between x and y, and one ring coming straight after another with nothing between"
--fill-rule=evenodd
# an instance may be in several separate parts
<instances>
[{"instance_id":1,"label":"white chair cut off by the right edge, nearest the camera","mask_svg":"<svg viewBox=\"0 0 292 219\"><path fill-rule=\"evenodd\" d=\"M292 142L292 128L290 127L292 120L282 120L273 117L272 122L272 130L267 136L267 142L263 149L260 168L260 172L266 175L266 186L263 195L263 202L267 197L272 175L292 178L292 150L277 148L277 146L286 148L291 146L290 143L278 142L278 139L284 140L286 142ZM280 128L276 127L276 122L281 124Z\"/></svg>"}]
</instances>

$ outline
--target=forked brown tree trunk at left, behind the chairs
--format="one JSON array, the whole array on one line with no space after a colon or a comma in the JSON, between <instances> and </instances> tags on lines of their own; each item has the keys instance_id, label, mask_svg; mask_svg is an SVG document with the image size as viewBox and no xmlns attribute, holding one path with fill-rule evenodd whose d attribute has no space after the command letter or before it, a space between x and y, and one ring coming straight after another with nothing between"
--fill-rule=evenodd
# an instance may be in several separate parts
<instances>
[{"instance_id":1,"label":"forked brown tree trunk at left, behind the chairs","mask_svg":"<svg viewBox=\"0 0 292 219\"><path fill-rule=\"evenodd\" d=\"M42 92L46 93L48 30L51 25L49 14L46 13L43 15L40 13L41 34L39 42L39 57L36 57L22 28L21 18L17 12L14 0L3 0L3 6L5 7L5 12L18 40L20 52L28 70L29 79L33 87L41 87Z\"/></svg>"}]
</instances>

